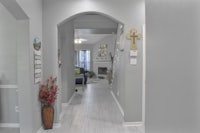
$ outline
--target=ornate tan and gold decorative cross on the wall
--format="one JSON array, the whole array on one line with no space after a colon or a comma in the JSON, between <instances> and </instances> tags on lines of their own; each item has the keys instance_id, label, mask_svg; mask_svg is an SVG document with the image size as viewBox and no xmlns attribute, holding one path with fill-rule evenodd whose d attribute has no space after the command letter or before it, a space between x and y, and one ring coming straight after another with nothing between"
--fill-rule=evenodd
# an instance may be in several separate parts
<instances>
[{"instance_id":1,"label":"ornate tan and gold decorative cross on the wall","mask_svg":"<svg viewBox=\"0 0 200 133\"><path fill-rule=\"evenodd\" d=\"M127 34L127 39L131 40L131 50L137 50L136 40L140 40L142 35L137 32L136 29L132 29L130 33Z\"/></svg>"}]
</instances>

